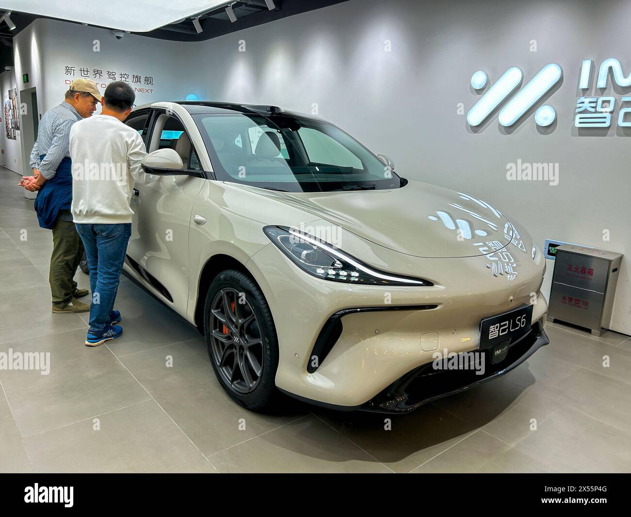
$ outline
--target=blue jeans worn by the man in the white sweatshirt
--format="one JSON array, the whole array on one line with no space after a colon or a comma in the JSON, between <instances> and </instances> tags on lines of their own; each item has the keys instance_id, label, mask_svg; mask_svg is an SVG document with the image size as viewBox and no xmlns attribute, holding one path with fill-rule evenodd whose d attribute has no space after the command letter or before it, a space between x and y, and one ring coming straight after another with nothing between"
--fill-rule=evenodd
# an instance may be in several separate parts
<instances>
[{"instance_id":1,"label":"blue jeans worn by the man in the white sweatshirt","mask_svg":"<svg viewBox=\"0 0 631 517\"><path fill-rule=\"evenodd\" d=\"M74 224L81 235L90 269L90 333L100 333L110 321L121 281L131 223Z\"/></svg>"}]
</instances>

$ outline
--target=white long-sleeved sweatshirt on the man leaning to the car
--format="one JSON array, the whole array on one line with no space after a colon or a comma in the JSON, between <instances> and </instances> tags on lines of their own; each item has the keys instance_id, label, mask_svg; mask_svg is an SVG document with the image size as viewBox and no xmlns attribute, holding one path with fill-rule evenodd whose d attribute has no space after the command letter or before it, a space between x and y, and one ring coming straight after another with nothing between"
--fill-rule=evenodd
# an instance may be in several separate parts
<instances>
[{"instance_id":1,"label":"white long-sleeved sweatshirt on the man leaning to the car","mask_svg":"<svg viewBox=\"0 0 631 517\"><path fill-rule=\"evenodd\" d=\"M138 131L115 117L94 115L75 122L70 130L74 222L131 223L134 179L158 179L141 169L146 154Z\"/></svg>"}]
</instances>

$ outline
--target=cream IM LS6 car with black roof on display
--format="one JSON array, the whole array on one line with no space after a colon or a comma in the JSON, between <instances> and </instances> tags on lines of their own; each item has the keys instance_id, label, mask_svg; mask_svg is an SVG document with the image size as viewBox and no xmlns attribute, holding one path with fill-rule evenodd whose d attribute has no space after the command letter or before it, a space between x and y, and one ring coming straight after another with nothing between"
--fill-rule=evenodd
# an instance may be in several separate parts
<instances>
[{"instance_id":1,"label":"cream IM LS6 car with black roof on display","mask_svg":"<svg viewBox=\"0 0 631 517\"><path fill-rule=\"evenodd\" d=\"M204 333L245 407L406 412L548 343L545 258L486 201L274 106L157 102L126 123L162 181L135 186L125 270ZM464 352L474 369L436 359Z\"/></svg>"}]
</instances>

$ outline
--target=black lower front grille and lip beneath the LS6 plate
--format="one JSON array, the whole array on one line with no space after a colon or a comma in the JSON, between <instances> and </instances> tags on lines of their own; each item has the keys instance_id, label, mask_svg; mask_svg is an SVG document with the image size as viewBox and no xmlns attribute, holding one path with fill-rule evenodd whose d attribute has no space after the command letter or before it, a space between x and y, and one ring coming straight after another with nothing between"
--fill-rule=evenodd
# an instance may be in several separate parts
<instances>
[{"instance_id":1,"label":"black lower front grille and lip beneath the LS6 plate","mask_svg":"<svg viewBox=\"0 0 631 517\"><path fill-rule=\"evenodd\" d=\"M360 409L383 413L406 413L443 396L452 395L473 388L504 375L524 362L536 350L550 343L543 330L543 323L537 321L531 331L519 342L510 346L502 362L491 362L490 350L479 350L485 355L485 371L478 375L473 369L437 370L433 362L424 364L392 383Z\"/></svg>"}]
</instances>

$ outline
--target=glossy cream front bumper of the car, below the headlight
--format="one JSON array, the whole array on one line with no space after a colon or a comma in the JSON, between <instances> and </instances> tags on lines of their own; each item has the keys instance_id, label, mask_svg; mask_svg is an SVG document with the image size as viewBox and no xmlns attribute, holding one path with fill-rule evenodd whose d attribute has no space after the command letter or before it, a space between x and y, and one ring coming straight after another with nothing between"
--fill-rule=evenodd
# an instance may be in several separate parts
<instances>
[{"instance_id":1,"label":"glossy cream front bumper of the car, below the headlight","mask_svg":"<svg viewBox=\"0 0 631 517\"><path fill-rule=\"evenodd\" d=\"M345 237L345 246L352 238ZM456 354L477 350L483 318L533 304L531 324L545 321L548 305L539 292L542 258L533 261L528 254L519 263L516 280L508 282L492 275L484 256L421 259L377 251L387 256L382 263L373 257L375 268L387 270L386 263L404 261L394 273L418 273L435 285L384 288L327 282L297 268L273 244L248 261L246 267L264 292L276 326L279 389L302 400L353 410L409 372L431 364L439 345ZM447 282L440 283L439 276ZM334 329L338 333L333 347L327 354L314 354L322 329L339 312L342 325ZM435 348L423 347L425 334L437 335ZM317 368L312 367L314 355L320 358Z\"/></svg>"}]
</instances>

